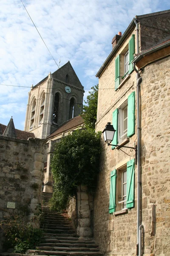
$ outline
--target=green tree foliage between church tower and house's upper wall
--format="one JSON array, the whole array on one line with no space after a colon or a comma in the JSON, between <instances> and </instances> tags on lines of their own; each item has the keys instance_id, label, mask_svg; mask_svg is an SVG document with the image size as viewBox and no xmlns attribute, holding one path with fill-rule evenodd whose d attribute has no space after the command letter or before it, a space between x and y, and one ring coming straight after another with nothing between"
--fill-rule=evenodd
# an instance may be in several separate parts
<instances>
[{"instance_id":1,"label":"green tree foliage between church tower and house's upper wall","mask_svg":"<svg viewBox=\"0 0 170 256\"><path fill-rule=\"evenodd\" d=\"M95 85L91 87L91 90L89 93L90 95L87 96L87 101L83 106L83 112L81 114L82 118L85 122L85 128L95 130L95 122L97 118L97 100L98 100L98 90L99 85Z\"/></svg>"}]
</instances>

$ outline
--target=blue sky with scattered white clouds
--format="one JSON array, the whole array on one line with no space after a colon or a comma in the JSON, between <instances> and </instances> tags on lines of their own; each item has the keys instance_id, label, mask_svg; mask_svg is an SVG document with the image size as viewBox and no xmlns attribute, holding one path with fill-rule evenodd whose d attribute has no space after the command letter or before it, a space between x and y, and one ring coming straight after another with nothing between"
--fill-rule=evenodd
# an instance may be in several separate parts
<instances>
[{"instance_id":1,"label":"blue sky with scattered white clouds","mask_svg":"<svg viewBox=\"0 0 170 256\"><path fill-rule=\"evenodd\" d=\"M98 83L95 75L112 50L112 38L125 32L136 15L170 9L169 0L23 3L57 64L71 62L84 86L84 99ZM7 125L13 116L15 128L23 130L31 85L58 67L21 0L0 0L0 6L0 123Z\"/></svg>"}]
</instances>

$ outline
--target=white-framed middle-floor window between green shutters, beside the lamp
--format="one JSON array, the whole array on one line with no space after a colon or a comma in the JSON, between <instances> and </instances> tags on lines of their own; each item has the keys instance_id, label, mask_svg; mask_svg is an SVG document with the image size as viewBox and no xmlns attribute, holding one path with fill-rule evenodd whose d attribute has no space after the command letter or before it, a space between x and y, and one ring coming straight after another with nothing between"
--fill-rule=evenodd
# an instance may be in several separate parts
<instances>
[{"instance_id":1,"label":"white-framed middle-floor window between green shutters, beside the lamp","mask_svg":"<svg viewBox=\"0 0 170 256\"><path fill-rule=\"evenodd\" d=\"M127 100L119 108L119 117L118 117L119 133L118 133L118 142L122 143L123 140L127 138Z\"/></svg>"}]
</instances>

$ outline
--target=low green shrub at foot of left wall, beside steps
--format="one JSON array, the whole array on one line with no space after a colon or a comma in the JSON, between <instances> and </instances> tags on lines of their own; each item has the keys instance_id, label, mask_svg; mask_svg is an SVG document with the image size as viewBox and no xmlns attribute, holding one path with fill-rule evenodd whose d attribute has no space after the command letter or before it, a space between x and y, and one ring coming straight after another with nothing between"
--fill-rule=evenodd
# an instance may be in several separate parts
<instances>
[{"instance_id":1,"label":"low green shrub at foot of left wall, beside steps","mask_svg":"<svg viewBox=\"0 0 170 256\"><path fill-rule=\"evenodd\" d=\"M0 227L7 238L5 247L14 247L14 253L25 253L28 248L38 245L42 238L42 230L34 228L19 216L7 216L6 220L1 221Z\"/></svg>"}]
</instances>

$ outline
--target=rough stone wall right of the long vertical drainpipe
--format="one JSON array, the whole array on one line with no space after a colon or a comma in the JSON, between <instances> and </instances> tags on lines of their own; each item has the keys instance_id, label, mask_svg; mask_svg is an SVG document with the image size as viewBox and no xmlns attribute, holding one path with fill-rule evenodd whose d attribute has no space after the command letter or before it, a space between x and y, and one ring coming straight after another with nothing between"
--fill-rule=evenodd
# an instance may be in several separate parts
<instances>
[{"instance_id":1,"label":"rough stone wall right of the long vertical drainpipe","mask_svg":"<svg viewBox=\"0 0 170 256\"><path fill-rule=\"evenodd\" d=\"M170 252L169 70L170 57L145 67L142 78L142 198L147 198L142 222L145 248L155 256Z\"/></svg>"}]
</instances>

